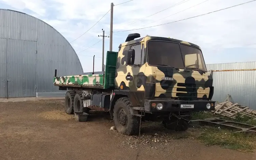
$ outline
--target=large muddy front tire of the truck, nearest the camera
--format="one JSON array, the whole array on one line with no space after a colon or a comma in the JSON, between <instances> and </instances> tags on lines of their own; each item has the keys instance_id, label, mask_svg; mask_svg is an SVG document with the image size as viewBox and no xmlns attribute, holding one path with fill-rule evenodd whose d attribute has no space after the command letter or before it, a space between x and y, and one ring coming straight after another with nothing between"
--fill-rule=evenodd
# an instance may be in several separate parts
<instances>
[{"instance_id":1,"label":"large muddy front tire of the truck, nearest the camera","mask_svg":"<svg viewBox=\"0 0 256 160\"><path fill-rule=\"evenodd\" d=\"M117 99L114 106L114 123L116 130L125 135L139 133L140 117L131 115L128 97ZM123 120L122 120L123 118Z\"/></svg>"}]
</instances>

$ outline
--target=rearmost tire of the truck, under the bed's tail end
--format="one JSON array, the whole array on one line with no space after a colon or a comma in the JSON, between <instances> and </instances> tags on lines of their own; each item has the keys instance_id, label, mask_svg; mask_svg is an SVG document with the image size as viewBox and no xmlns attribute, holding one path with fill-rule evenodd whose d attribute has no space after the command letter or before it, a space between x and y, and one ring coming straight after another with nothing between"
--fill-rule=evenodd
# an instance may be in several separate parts
<instances>
[{"instance_id":1,"label":"rearmost tire of the truck, under the bed's tail end","mask_svg":"<svg viewBox=\"0 0 256 160\"><path fill-rule=\"evenodd\" d=\"M67 114L73 114L74 113L74 97L75 97L75 91L69 90L66 93L65 96L65 111Z\"/></svg>"}]
</instances>

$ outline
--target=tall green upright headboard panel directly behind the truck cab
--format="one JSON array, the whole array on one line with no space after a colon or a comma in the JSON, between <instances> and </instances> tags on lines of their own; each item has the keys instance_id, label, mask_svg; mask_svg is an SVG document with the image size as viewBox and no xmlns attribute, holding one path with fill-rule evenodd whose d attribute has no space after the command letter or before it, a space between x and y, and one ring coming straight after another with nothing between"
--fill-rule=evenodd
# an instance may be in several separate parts
<instances>
[{"instance_id":1,"label":"tall green upright headboard panel directly behind the truck cab","mask_svg":"<svg viewBox=\"0 0 256 160\"><path fill-rule=\"evenodd\" d=\"M105 77L104 77L104 89L108 89L110 87L115 86L117 55L118 55L118 52L107 51Z\"/></svg>"}]
</instances>

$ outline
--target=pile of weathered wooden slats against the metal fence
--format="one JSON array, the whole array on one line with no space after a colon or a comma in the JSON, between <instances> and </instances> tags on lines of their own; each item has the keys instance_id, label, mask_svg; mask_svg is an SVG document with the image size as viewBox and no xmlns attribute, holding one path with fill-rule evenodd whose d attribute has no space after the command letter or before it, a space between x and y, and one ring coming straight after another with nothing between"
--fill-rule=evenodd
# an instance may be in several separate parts
<instances>
[{"instance_id":1,"label":"pile of weathered wooden slats against the metal fence","mask_svg":"<svg viewBox=\"0 0 256 160\"><path fill-rule=\"evenodd\" d=\"M230 95L222 103L215 105L214 114L220 114L230 118L236 118L236 114L240 113L243 116L256 118L256 111L251 110L249 107L241 106L239 103L232 103L229 100Z\"/></svg>"}]
</instances>

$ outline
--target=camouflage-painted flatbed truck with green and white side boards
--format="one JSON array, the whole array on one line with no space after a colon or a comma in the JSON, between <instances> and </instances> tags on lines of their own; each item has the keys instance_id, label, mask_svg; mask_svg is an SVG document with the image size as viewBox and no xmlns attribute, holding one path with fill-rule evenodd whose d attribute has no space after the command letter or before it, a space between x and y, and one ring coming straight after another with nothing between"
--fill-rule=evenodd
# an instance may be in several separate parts
<instances>
[{"instance_id":1,"label":"camouflage-painted flatbed truck with green and white side boards","mask_svg":"<svg viewBox=\"0 0 256 160\"><path fill-rule=\"evenodd\" d=\"M127 135L137 134L145 119L186 130L192 112L214 110L212 83L199 46L138 33L118 52L107 52L102 74L54 77L59 90L68 90L67 114L110 112L117 131Z\"/></svg>"}]
</instances>

